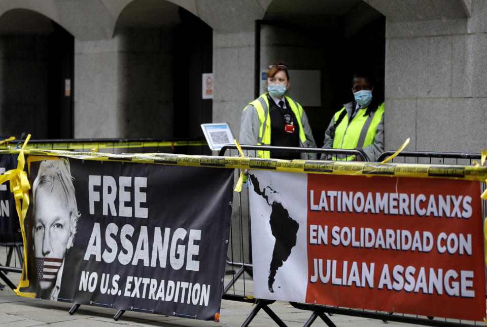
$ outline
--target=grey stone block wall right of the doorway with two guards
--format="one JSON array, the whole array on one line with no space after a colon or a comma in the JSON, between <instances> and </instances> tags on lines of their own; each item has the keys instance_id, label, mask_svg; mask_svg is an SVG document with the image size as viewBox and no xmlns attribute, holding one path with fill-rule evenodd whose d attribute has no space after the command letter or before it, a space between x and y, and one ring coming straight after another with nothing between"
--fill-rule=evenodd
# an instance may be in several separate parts
<instances>
[{"instance_id":1,"label":"grey stone block wall right of the doorway with two guards","mask_svg":"<svg viewBox=\"0 0 487 327\"><path fill-rule=\"evenodd\" d=\"M386 150L480 152L487 146L487 3L371 0L386 15ZM464 5L464 6L462 6ZM420 15L421 14L421 15Z\"/></svg>"}]
</instances>

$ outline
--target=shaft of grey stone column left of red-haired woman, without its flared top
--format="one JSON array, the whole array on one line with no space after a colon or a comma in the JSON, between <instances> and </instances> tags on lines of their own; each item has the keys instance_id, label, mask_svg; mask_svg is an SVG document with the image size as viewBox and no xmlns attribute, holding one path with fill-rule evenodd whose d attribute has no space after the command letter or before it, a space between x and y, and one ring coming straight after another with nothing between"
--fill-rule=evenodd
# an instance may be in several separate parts
<instances>
[{"instance_id":1,"label":"shaft of grey stone column left of red-haired woman, without its flared top","mask_svg":"<svg viewBox=\"0 0 487 327\"><path fill-rule=\"evenodd\" d=\"M241 112L254 100L254 50L254 32L213 33L213 121L228 122L236 139L240 133ZM235 182L237 178L235 174ZM229 255L234 262L249 262L250 215L246 185L242 186L240 194L233 194Z\"/></svg>"}]
</instances>

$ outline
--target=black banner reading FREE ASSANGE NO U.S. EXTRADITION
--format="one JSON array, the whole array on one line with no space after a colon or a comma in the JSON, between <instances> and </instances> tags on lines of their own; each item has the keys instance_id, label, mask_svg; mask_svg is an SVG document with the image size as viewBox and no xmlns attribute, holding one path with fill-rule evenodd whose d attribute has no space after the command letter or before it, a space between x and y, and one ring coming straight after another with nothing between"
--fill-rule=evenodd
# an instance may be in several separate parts
<instances>
[{"instance_id":1,"label":"black banner reading FREE ASSANGE NO U.S. EXTRADITION","mask_svg":"<svg viewBox=\"0 0 487 327\"><path fill-rule=\"evenodd\" d=\"M233 170L29 156L36 297L213 320Z\"/></svg>"}]
</instances>

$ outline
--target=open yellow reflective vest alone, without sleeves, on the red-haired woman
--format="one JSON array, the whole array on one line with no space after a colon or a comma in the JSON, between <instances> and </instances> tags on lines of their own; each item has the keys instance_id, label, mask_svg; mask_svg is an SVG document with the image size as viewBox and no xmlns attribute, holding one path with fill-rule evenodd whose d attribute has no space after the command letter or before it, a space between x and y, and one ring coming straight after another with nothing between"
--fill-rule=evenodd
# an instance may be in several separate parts
<instances>
[{"instance_id":1,"label":"open yellow reflective vest alone, without sleeves, on the red-haired woman","mask_svg":"<svg viewBox=\"0 0 487 327\"><path fill-rule=\"evenodd\" d=\"M303 126L301 125L301 116L303 115L303 107L290 97L285 97L288 100L291 110L296 116L299 126L299 139L301 141L301 146L303 146L306 141L306 135L304 134ZM259 137L257 138L257 145L270 145L270 115L269 115L269 100L267 99L267 94L262 94L260 97L249 103L253 105L257 110L257 115L259 116ZM245 107L243 110L247 110L249 106ZM257 151L259 158L270 158L270 151Z\"/></svg>"}]
</instances>

